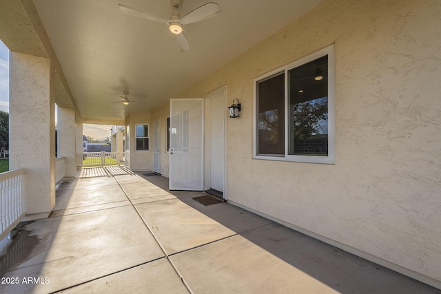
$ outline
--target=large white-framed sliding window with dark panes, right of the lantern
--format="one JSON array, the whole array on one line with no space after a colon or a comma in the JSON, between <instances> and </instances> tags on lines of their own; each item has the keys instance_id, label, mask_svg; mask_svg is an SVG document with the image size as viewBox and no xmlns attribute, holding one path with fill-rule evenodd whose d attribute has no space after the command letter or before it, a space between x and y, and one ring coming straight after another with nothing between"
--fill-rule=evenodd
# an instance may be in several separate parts
<instances>
[{"instance_id":1,"label":"large white-framed sliding window with dark panes, right of the lantern","mask_svg":"<svg viewBox=\"0 0 441 294\"><path fill-rule=\"evenodd\" d=\"M255 83L254 158L334 163L334 46Z\"/></svg>"}]
</instances>

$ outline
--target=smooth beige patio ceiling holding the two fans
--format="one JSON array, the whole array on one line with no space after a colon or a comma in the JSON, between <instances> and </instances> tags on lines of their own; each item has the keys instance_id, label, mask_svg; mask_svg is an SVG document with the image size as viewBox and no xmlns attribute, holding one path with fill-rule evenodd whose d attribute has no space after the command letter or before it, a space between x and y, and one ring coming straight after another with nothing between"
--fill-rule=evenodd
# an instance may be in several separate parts
<instances>
[{"instance_id":1,"label":"smooth beige patio ceiling holding the two fans","mask_svg":"<svg viewBox=\"0 0 441 294\"><path fill-rule=\"evenodd\" d=\"M85 119L124 120L152 109L270 36L321 0L216 0L222 13L185 25L181 52L167 25L124 14L121 3L164 19L170 0L34 0L74 103ZM207 3L185 0L181 14ZM258 61L256 61L258 62ZM118 96L130 92L128 106Z\"/></svg>"}]
</instances>

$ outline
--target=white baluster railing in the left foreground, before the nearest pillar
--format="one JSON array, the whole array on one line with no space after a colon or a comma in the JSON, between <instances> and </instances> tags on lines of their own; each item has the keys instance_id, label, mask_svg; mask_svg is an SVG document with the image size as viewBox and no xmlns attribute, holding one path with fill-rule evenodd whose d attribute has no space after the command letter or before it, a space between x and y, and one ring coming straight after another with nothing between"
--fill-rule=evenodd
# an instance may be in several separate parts
<instances>
[{"instance_id":1,"label":"white baluster railing in the left foreground, before the nearest pillar","mask_svg":"<svg viewBox=\"0 0 441 294\"><path fill-rule=\"evenodd\" d=\"M25 169L15 169L0 174L0 240L24 217L23 174L25 174Z\"/></svg>"}]
</instances>

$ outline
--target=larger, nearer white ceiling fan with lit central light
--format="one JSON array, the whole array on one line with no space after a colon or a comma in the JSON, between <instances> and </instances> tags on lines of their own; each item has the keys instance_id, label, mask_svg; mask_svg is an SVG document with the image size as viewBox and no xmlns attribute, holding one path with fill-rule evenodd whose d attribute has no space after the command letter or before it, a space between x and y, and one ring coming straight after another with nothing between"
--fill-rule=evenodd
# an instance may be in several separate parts
<instances>
[{"instance_id":1,"label":"larger, nearer white ceiling fan with lit central light","mask_svg":"<svg viewBox=\"0 0 441 294\"><path fill-rule=\"evenodd\" d=\"M119 4L119 9L121 9L124 13L133 15L135 17L141 17L143 19L156 21L158 23L167 23L170 32L176 34L176 41L178 41L179 48L182 52L184 52L190 49L190 45L183 32L183 25L186 25L188 23L196 23L196 21L203 21L204 19L209 19L210 17L214 17L216 14L219 14L222 10L217 3L209 2L199 8L196 8L192 12L185 14L185 16L181 18L180 10L182 7L182 1L183 0L170 0L170 4L172 6L172 16L170 17L170 19L162 19L161 17L157 17L154 14L134 10L121 4Z\"/></svg>"}]
</instances>

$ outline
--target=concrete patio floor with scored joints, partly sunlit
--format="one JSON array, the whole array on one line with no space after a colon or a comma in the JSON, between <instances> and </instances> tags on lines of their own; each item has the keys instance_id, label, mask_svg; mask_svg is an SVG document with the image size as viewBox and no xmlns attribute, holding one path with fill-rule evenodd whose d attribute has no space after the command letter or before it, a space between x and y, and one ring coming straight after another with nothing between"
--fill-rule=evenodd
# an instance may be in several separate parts
<instances>
[{"instance_id":1,"label":"concrete patio floor with scored joints, partly sunlit","mask_svg":"<svg viewBox=\"0 0 441 294\"><path fill-rule=\"evenodd\" d=\"M123 168L79 172L50 218L1 240L0 293L441 293L200 195Z\"/></svg>"}]
</instances>

